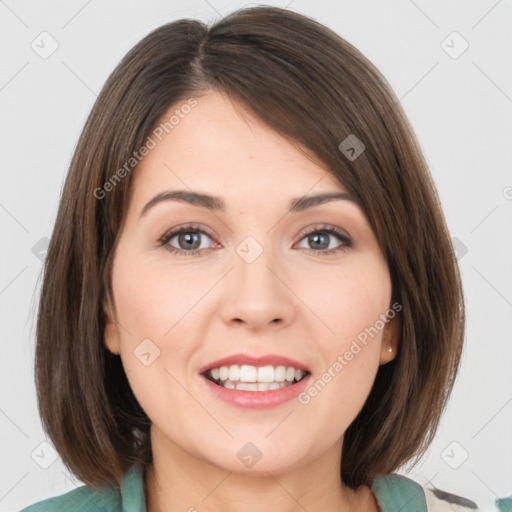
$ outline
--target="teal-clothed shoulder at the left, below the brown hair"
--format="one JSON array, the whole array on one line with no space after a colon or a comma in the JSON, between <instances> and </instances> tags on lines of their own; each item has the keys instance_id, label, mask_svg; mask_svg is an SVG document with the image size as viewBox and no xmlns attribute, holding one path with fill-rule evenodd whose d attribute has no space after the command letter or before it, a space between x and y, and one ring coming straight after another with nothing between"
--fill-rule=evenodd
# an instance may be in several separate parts
<instances>
[{"instance_id":1,"label":"teal-clothed shoulder at the left, below the brown hair","mask_svg":"<svg viewBox=\"0 0 512 512\"><path fill-rule=\"evenodd\" d=\"M120 504L119 488L95 490L83 485L60 496L38 501L21 512L118 512L121 511Z\"/></svg>"}]
</instances>

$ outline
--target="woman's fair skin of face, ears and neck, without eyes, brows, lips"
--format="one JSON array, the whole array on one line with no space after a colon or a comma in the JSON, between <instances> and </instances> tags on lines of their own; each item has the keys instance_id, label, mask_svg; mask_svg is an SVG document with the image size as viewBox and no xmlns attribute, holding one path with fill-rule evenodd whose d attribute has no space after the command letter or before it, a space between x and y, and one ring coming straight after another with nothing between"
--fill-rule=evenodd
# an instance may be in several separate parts
<instances>
[{"instance_id":1,"label":"woman's fair skin of face, ears and neck, without eyes, brows, lips","mask_svg":"<svg viewBox=\"0 0 512 512\"><path fill-rule=\"evenodd\" d=\"M389 270L363 211L335 200L287 213L292 198L346 190L241 109L210 91L144 157L114 255L105 342L152 421L147 509L375 512L368 487L342 485L341 451L379 365L395 356L395 320L306 405L241 410L208 393L198 373L226 355L278 353L309 366L314 382L391 307ZM140 216L153 196L176 189L219 196L226 211L163 201ZM180 255L158 246L188 223L213 234L195 232L199 255L179 236L168 245ZM318 248L304 235L324 224L353 246L327 234ZM263 250L250 264L236 252L249 235ZM134 350L147 338L160 355L146 366ZM262 454L251 468L237 457L247 442Z\"/></svg>"}]
</instances>

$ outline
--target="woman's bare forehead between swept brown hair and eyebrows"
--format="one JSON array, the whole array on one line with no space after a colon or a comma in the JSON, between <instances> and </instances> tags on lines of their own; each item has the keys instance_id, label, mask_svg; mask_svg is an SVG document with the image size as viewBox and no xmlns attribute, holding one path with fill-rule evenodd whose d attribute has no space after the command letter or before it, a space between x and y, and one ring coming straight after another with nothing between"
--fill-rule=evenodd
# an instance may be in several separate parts
<instances>
[{"instance_id":1,"label":"woman's bare forehead between swept brown hair and eyebrows","mask_svg":"<svg viewBox=\"0 0 512 512\"><path fill-rule=\"evenodd\" d=\"M161 117L160 138L138 165L134 199L165 189L204 189L215 195L300 196L345 191L339 181L296 145L232 101L209 91ZM187 112L187 113L185 113ZM174 124L165 123L173 117Z\"/></svg>"}]
</instances>

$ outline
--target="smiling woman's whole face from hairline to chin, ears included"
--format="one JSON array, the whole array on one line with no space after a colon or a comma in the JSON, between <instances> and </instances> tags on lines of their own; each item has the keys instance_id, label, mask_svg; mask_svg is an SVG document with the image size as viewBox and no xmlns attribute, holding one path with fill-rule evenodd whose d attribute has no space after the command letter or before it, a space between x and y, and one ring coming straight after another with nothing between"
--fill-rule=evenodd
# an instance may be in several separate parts
<instances>
[{"instance_id":1,"label":"smiling woman's whole face from hairline to chin, ears included","mask_svg":"<svg viewBox=\"0 0 512 512\"><path fill-rule=\"evenodd\" d=\"M396 353L395 320L382 322L391 281L375 235L347 198L290 210L299 197L346 190L226 96L185 104L165 116L181 112L134 171L107 346L152 421L153 450L254 473L340 457L379 365ZM218 199L162 199L178 190ZM233 380L240 361L256 366L242 380L270 375L281 386L276 367L290 361L279 357L309 375L281 391L226 389L201 373L228 356ZM274 373L258 370L268 366Z\"/></svg>"}]
</instances>

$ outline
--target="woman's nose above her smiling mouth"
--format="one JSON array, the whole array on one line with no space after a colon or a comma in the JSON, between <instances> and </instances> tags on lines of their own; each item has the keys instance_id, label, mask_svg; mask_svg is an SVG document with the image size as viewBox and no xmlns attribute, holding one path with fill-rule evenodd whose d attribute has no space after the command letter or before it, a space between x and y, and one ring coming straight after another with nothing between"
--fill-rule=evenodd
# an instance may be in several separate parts
<instances>
[{"instance_id":1,"label":"woman's nose above her smiling mouth","mask_svg":"<svg viewBox=\"0 0 512 512\"><path fill-rule=\"evenodd\" d=\"M297 301L290 276L270 251L263 250L250 263L235 253L233 266L223 280L221 315L225 323L257 332L293 322Z\"/></svg>"}]
</instances>

